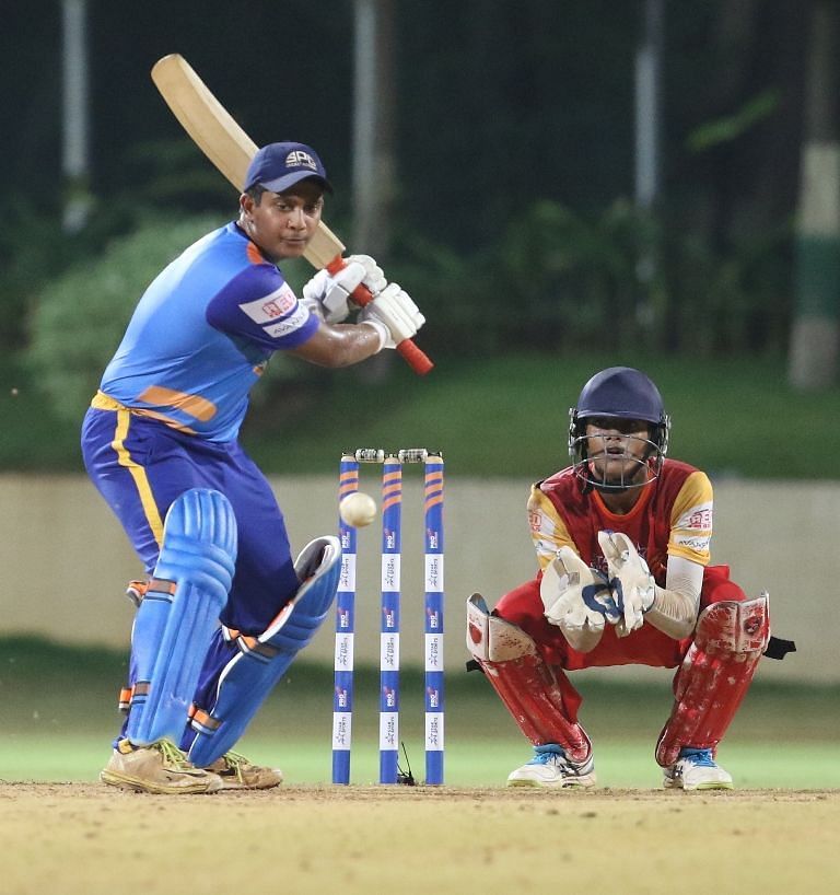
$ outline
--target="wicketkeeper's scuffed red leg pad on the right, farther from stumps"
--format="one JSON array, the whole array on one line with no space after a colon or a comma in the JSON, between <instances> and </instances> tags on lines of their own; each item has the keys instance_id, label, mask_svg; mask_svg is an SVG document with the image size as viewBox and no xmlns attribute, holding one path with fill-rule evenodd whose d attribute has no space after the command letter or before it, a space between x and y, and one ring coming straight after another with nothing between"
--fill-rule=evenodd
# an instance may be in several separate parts
<instances>
[{"instance_id":1,"label":"wicketkeeper's scuffed red leg pad on the right, farther from stumps","mask_svg":"<svg viewBox=\"0 0 840 895\"><path fill-rule=\"evenodd\" d=\"M656 746L662 767L682 746L716 748L738 710L770 637L768 596L712 603L674 682L674 708Z\"/></svg>"}]
</instances>

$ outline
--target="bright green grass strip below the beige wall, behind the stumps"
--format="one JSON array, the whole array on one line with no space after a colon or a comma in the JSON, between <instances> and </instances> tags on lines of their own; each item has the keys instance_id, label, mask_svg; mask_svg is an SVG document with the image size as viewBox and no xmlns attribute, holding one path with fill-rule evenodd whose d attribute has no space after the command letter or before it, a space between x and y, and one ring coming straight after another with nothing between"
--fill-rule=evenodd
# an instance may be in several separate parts
<instances>
[{"instance_id":1,"label":"bright green grass strip below the beige wall, behind the stumps","mask_svg":"<svg viewBox=\"0 0 840 895\"><path fill-rule=\"evenodd\" d=\"M36 639L0 639L0 779L91 781L118 730L116 696L126 673L118 651ZM478 672L452 659L446 676L446 783L503 786L530 748ZM580 673L582 721L595 745L602 786L656 788L653 749L670 708L672 672L641 683ZM376 782L377 672L357 674L352 782ZM238 748L281 767L290 783L330 781L332 672L301 660L278 685ZM742 788L840 787L837 687L762 684L760 670L719 758ZM423 688L404 671L400 733L418 782L424 777ZM405 758L400 756L405 767Z\"/></svg>"}]
</instances>

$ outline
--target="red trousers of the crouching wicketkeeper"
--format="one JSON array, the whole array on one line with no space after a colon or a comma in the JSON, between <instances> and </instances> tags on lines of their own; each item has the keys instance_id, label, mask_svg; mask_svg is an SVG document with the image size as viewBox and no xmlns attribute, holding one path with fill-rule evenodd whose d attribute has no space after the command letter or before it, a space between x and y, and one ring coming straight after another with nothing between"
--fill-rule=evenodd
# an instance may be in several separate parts
<instances>
[{"instance_id":1,"label":"red trousers of the crouching wicketkeeper","mask_svg":"<svg viewBox=\"0 0 840 895\"><path fill-rule=\"evenodd\" d=\"M595 649L585 653L572 649L560 628L551 625L544 615L545 607L539 595L540 578L537 576L506 593L493 614L517 625L534 639L557 674L563 705L573 723L578 721L578 710L583 700L563 672L611 665L675 669L688 652L691 637L674 640L650 624L622 638L616 636L614 625L606 625ZM734 581L730 581L728 566L708 566L703 570L700 611L722 600L740 602L746 600L746 594Z\"/></svg>"}]
</instances>

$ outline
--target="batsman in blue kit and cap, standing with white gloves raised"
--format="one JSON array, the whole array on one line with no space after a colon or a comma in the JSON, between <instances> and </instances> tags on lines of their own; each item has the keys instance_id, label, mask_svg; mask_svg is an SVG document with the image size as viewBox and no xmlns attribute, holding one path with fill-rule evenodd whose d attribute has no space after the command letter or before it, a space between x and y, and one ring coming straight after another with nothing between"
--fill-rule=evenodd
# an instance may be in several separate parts
<instances>
[{"instance_id":1,"label":"batsman in blue kit and cap, standing with white gloves raised","mask_svg":"<svg viewBox=\"0 0 840 895\"><path fill-rule=\"evenodd\" d=\"M248 393L275 351L347 367L424 322L364 255L317 274L299 301L277 265L303 255L325 191L310 147L260 149L237 220L148 288L85 416L88 472L149 574L130 591L128 714L106 783L180 793L282 779L232 747L326 617L340 546L316 538L292 559L275 495L237 440ZM374 299L345 323L360 283Z\"/></svg>"}]
</instances>

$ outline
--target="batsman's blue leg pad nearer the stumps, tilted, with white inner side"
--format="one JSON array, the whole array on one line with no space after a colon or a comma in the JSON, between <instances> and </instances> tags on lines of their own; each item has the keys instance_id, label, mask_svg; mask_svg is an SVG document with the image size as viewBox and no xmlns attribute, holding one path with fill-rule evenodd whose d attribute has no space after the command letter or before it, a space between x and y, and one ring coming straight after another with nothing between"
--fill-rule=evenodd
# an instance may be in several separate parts
<instances>
[{"instance_id":1,"label":"batsman's blue leg pad nearer the stumps, tilted, with white inner side","mask_svg":"<svg viewBox=\"0 0 840 895\"><path fill-rule=\"evenodd\" d=\"M341 573L341 545L326 536L304 547L294 563L302 584L259 637L236 635L238 653L219 677L215 705L197 710L197 736L189 749L196 767L209 767L229 752L294 656L312 640L327 617Z\"/></svg>"}]
</instances>

